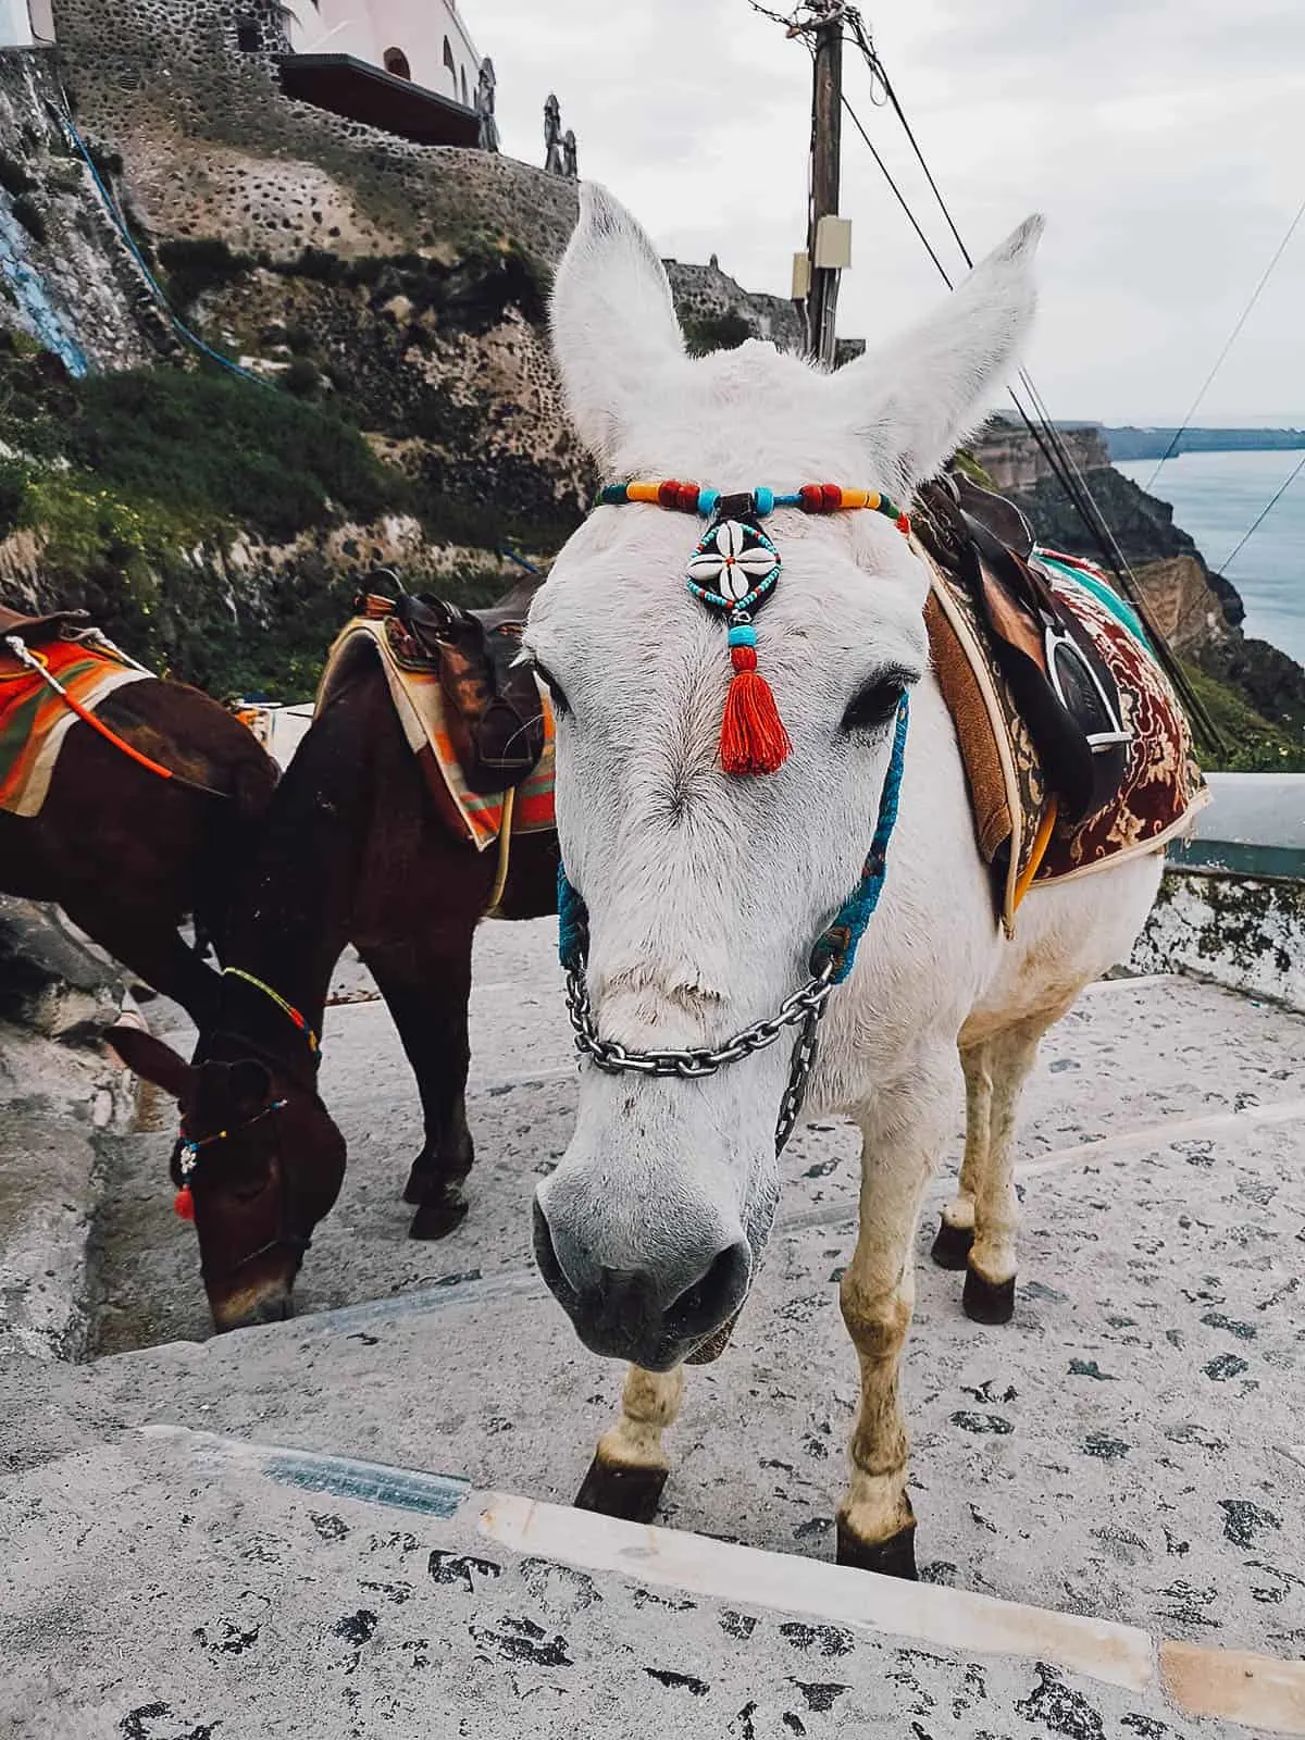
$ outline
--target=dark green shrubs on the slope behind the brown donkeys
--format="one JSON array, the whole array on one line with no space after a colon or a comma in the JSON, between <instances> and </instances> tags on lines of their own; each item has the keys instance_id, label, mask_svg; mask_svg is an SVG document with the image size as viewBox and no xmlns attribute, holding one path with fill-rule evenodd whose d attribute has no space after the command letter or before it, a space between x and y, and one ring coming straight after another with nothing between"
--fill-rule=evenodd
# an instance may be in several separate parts
<instances>
[{"instance_id":1,"label":"dark green shrubs on the slope behind the brown donkeys","mask_svg":"<svg viewBox=\"0 0 1305 1740\"><path fill-rule=\"evenodd\" d=\"M226 270L218 254L207 266ZM432 541L546 550L574 524L541 501L527 459L505 458L492 482L466 466L477 412L438 392L425 426L447 458L386 465L358 405L332 400L325 369L299 353L311 334L296 341L280 385L263 386L207 364L75 381L35 339L0 334L0 538L37 531L49 602L84 606L153 668L216 694L311 696L372 560L364 538L325 553L336 527L407 513ZM456 574L440 590L487 602L501 578Z\"/></svg>"}]
</instances>

